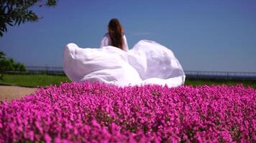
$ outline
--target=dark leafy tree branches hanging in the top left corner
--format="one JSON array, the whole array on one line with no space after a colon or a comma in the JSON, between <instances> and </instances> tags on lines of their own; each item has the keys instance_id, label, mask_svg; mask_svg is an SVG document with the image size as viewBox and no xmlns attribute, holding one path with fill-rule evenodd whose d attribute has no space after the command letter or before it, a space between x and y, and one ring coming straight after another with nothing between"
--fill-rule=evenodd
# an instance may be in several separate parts
<instances>
[{"instance_id":1,"label":"dark leafy tree branches hanging in the top left corner","mask_svg":"<svg viewBox=\"0 0 256 143\"><path fill-rule=\"evenodd\" d=\"M16 26L27 21L40 19L32 6L56 6L58 0L0 0L0 36L7 31L7 25Z\"/></svg>"}]
</instances>

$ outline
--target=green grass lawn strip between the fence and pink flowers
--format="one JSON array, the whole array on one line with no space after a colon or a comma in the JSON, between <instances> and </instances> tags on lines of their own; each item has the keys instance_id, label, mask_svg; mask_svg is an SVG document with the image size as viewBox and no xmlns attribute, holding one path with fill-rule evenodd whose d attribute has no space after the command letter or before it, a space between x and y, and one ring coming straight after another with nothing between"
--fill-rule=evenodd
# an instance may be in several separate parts
<instances>
[{"instance_id":1,"label":"green grass lawn strip between the fence and pink flowers","mask_svg":"<svg viewBox=\"0 0 256 143\"><path fill-rule=\"evenodd\" d=\"M57 84L60 82L70 82L64 75L47 75L47 74L4 74L0 79L0 84L15 85L21 87L45 87L47 85ZM252 80L226 80L226 79L186 79L186 85L203 85L203 84L243 84L245 87L252 86L256 88L256 81Z\"/></svg>"}]
</instances>

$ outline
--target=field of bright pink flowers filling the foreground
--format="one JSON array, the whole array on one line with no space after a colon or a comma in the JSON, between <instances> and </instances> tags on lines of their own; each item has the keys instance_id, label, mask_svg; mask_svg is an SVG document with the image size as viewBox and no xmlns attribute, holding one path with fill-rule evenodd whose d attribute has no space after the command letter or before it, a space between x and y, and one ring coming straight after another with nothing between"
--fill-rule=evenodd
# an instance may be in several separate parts
<instances>
[{"instance_id":1,"label":"field of bright pink flowers filling the foreground","mask_svg":"<svg viewBox=\"0 0 256 143\"><path fill-rule=\"evenodd\" d=\"M256 142L256 89L63 83L0 104L0 142Z\"/></svg>"}]
</instances>

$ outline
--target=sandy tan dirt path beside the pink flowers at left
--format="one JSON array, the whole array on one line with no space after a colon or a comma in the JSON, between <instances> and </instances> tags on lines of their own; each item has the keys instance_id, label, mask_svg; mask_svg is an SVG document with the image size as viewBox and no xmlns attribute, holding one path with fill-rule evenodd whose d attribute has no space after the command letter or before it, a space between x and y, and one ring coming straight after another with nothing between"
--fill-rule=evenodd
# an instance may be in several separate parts
<instances>
[{"instance_id":1,"label":"sandy tan dirt path beside the pink flowers at left","mask_svg":"<svg viewBox=\"0 0 256 143\"><path fill-rule=\"evenodd\" d=\"M0 101L11 101L12 99L20 99L26 95L32 94L37 88L16 87L16 86L0 86Z\"/></svg>"}]
</instances>

